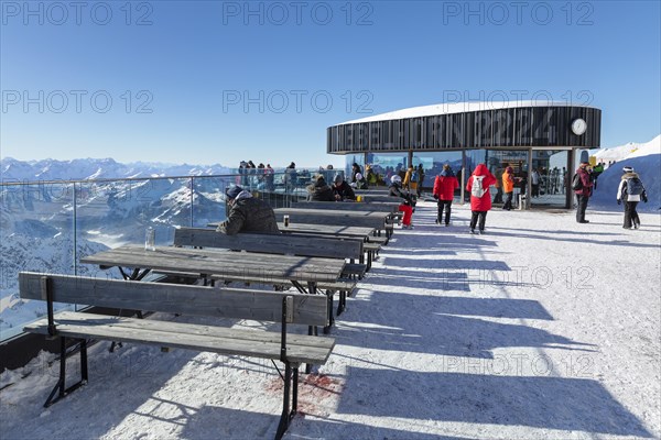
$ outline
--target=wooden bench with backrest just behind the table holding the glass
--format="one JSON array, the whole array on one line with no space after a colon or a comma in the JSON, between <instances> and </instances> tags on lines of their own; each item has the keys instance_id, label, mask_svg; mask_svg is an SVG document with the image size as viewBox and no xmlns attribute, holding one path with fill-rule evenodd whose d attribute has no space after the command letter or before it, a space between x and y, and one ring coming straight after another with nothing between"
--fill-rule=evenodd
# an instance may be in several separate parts
<instances>
[{"instance_id":1,"label":"wooden bench with backrest just behind the table holding the glass","mask_svg":"<svg viewBox=\"0 0 661 440\"><path fill-rule=\"evenodd\" d=\"M324 332L327 333L330 326L335 322L333 317L334 295L339 294L339 302L337 307L337 316L346 309L346 297L350 296L356 288L356 278L362 278L365 273L371 265L371 254L368 257L368 264L364 264L364 243L360 240L338 240L330 238L311 238L296 237L288 234L258 234L258 233L239 233L236 235L227 235L216 232L213 229L204 228L177 228L174 231L175 246L194 246L194 248L218 248L238 251L251 251L274 254L293 254L301 256L321 256L329 258L349 258L351 261L359 260L359 263L345 264L343 278L332 283L317 283L317 287L326 293L329 302L328 326L324 327ZM229 282L245 282L269 284L273 286L289 285L291 282L285 278L260 278L260 277L243 277L243 276L224 276L218 277L210 274L212 280L223 279ZM300 288L299 285L295 285Z\"/></svg>"}]
</instances>

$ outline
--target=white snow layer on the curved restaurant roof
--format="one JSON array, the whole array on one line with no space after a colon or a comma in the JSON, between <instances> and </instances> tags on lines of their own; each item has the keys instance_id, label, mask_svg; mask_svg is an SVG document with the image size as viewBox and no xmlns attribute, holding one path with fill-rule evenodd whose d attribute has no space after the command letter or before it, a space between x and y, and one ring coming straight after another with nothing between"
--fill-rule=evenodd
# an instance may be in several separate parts
<instances>
[{"instance_id":1,"label":"white snow layer on the curved restaurant roof","mask_svg":"<svg viewBox=\"0 0 661 440\"><path fill-rule=\"evenodd\" d=\"M390 121L393 119L407 119L407 118L421 118L431 117L435 114L449 114L449 113L465 113L472 111L484 111L484 110L500 110L500 109L513 109L520 107L589 107L576 105L566 101L545 101L545 100L530 100L530 101L484 101L484 102L444 102L435 103L432 106L411 107L410 109L394 110L387 113L373 114L371 117L355 119L339 123L338 125L360 122L375 122L375 121Z\"/></svg>"}]
</instances>

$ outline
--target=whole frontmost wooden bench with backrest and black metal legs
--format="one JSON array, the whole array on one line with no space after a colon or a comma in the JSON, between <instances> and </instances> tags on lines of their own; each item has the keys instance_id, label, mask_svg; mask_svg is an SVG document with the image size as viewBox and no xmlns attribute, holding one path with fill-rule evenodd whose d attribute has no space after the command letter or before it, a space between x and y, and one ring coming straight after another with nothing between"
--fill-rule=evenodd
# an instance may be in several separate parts
<instances>
[{"instance_id":1,"label":"whole frontmost wooden bench with backrest and black metal legs","mask_svg":"<svg viewBox=\"0 0 661 440\"><path fill-rule=\"evenodd\" d=\"M45 334L47 338L58 338L61 342L59 378L46 399L45 407L88 382L87 339L269 359L281 361L285 366L282 415L275 433L275 439L280 439L296 414L300 364L325 364L335 345L333 339L288 333L288 324L291 323L328 323L328 304L323 296L28 272L19 274L19 286L23 299L47 301L47 318L25 326L24 330ZM215 318L254 319L280 322L281 329L280 332L269 332L73 311L53 314L55 301ZM66 387L68 338L79 341L82 377L76 384Z\"/></svg>"}]
</instances>

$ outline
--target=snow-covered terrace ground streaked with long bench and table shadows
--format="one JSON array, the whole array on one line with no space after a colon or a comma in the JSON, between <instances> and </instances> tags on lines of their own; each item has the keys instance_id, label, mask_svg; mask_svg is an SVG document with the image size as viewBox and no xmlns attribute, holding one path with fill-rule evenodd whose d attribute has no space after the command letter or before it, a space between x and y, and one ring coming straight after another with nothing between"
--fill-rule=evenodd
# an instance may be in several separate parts
<instances>
[{"instance_id":1,"label":"snow-covered terrace ground streaked with long bench and table shadows","mask_svg":"<svg viewBox=\"0 0 661 440\"><path fill-rule=\"evenodd\" d=\"M395 231L349 298L285 439L660 438L661 217L624 230L621 212L589 206L588 224L494 210L470 235L466 207L449 228L434 210L419 204L415 229ZM270 363L107 349L93 346L90 383L48 409L52 354L2 374L0 437L274 436Z\"/></svg>"}]
</instances>

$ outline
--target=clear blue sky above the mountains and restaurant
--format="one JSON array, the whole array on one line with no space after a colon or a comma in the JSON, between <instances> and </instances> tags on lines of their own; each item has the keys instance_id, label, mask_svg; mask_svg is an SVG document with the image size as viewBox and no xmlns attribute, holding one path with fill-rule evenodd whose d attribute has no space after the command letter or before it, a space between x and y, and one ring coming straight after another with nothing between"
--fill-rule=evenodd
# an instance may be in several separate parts
<instances>
[{"instance_id":1,"label":"clear blue sky above the mountains and restaurant","mask_svg":"<svg viewBox=\"0 0 661 440\"><path fill-rule=\"evenodd\" d=\"M326 128L465 100L661 132L658 1L1 1L0 156L339 165Z\"/></svg>"}]
</instances>

